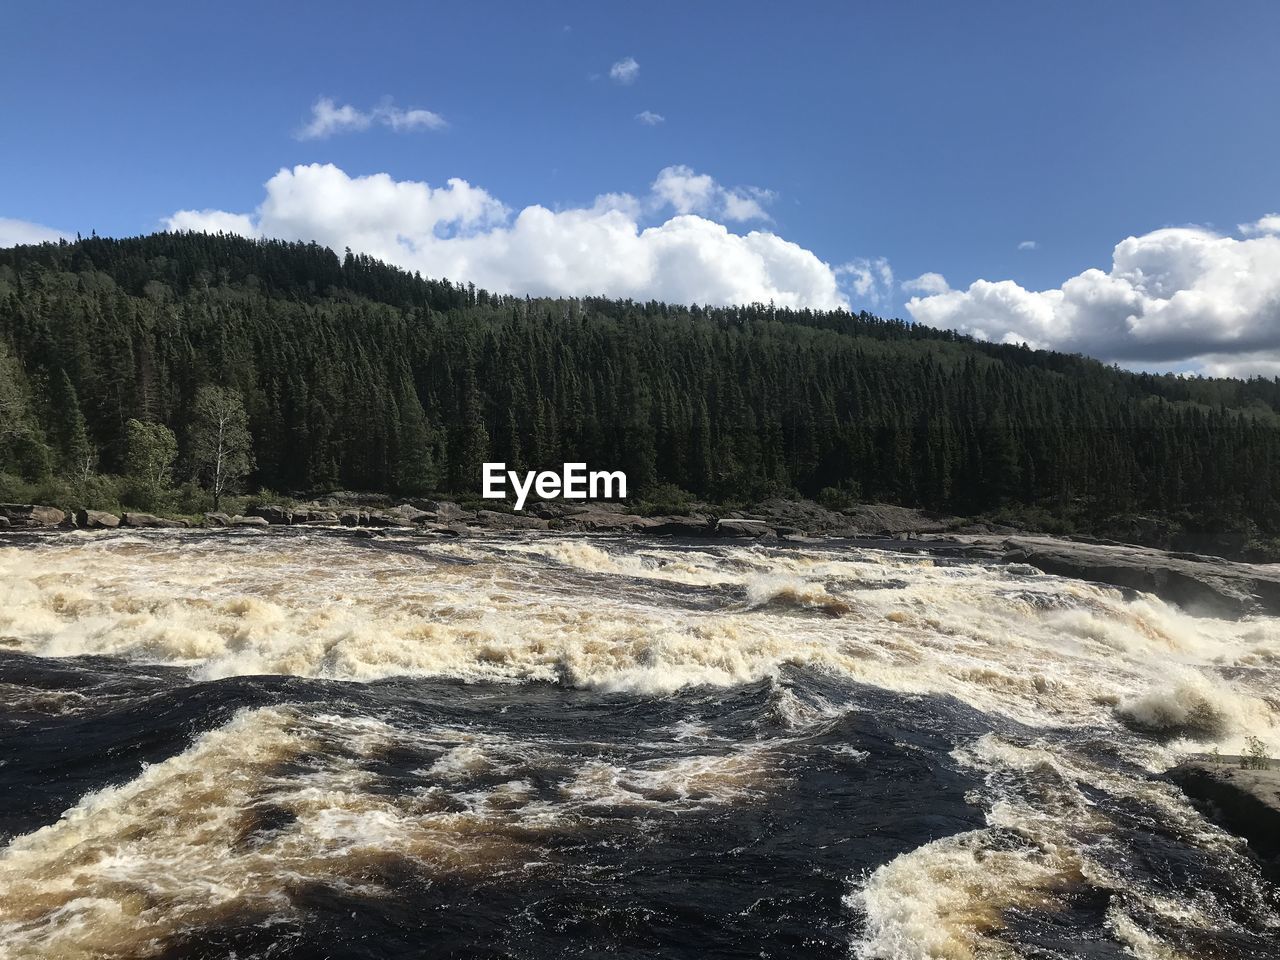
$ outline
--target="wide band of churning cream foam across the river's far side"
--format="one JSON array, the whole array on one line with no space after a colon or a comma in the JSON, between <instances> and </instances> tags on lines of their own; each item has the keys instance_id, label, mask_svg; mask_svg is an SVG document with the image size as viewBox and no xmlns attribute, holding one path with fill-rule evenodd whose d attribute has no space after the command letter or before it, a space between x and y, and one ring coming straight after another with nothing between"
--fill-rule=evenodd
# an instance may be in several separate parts
<instances>
[{"instance_id":1,"label":"wide band of churning cream foam across the river's far side","mask_svg":"<svg viewBox=\"0 0 1280 960\"><path fill-rule=\"evenodd\" d=\"M0 548L0 636L202 678L443 676L654 695L799 664L1033 726L1123 722L1197 744L1252 733L1280 749L1275 620L1193 618L1091 584L874 550L495 538L415 553L402 541ZM690 607L690 590L705 599ZM1236 666L1248 669L1228 677Z\"/></svg>"}]
</instances>

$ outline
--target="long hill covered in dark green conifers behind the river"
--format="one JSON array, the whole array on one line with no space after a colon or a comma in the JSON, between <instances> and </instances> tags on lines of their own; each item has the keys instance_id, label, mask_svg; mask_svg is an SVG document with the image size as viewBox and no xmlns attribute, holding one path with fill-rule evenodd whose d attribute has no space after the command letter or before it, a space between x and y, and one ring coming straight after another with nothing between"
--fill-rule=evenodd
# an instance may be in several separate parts
<instances>
[{"instance_id":1,"label":"long hill covered in dark green conifers behind the river","mask_svg":"<svg viewBox=\"0 0 1280 960\"><path fill-rule=\"evenodd\" d=\"M495 296L316 244L0 250L9 488L136 475L129 421L174 433L160 480L198 479L206 385L243 403L250 488L461 494L486 460L585 461L667 497L1280 534L1275 380L1135 375L867 314Z\"/></svg>"}]
</instances>

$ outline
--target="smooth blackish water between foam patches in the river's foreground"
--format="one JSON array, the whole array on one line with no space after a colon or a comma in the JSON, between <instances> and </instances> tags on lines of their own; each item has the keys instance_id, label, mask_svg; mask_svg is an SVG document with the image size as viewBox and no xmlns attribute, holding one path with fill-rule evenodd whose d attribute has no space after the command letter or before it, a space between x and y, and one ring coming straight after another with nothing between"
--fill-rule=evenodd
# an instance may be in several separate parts
<instances>
[{"instance_id":1,"label":"smooth blackish water between foam patches in the river's foreground","mask_svg":"<svg viewBox=\"0 0 1280 960\"><path fill-rule=\"evenodd\" d=\"M132 780L142 764L182 753L244 708L372 717L410 732L445 723L535 744L536 763L476 772L467 788L518 776L550 809L562 805L566 780L591 763L636 769L742 744L777 745L767 748L777 756L771 786L758 796L724 805L714 801L714 785L699 795L637 782L622 790L634 804L588 803L536 832L539 863L529 870L451 877L385 850L357 878L372 893L279 877L292 905L285 915L247 910L174 931L160 956L847 957L861 927L846 902L851 878L983 826L980 806L965 799L980 785L950 753L992 730L988 717L950 698L902 698L799 669L731 690L636 698L550 684L193 684L172 668L4 654L0 684L8 700L0 717L5 837L55 822L82 795ZM783 696L795 698L790 710L780 708ZM820 710L832 703L856 708L803 732L786 716L797 704ZM673 736L694 724L696 740ZM1001 731L1020 735L1016 724ZM443 753L428 736L361 756L370 774L365 788L403 794L430 786L426 771ZM253 829L238 842L260 842L288 826L288 812L273 810L270 796L264 786ZM1238 919L1249 920L1248 901L1265 891L1256 876L1235 876L1240 864L1215 869L1143 810L1124 810L1102 792L1094 799L1125 822L1126 842L1116 849L1123 872L1144 874L1174 896L1212 883L1236 893ZM1051 910L1016 911L1000 940L1023 956L1126 956L1105 936L1114 895L1080 883ZM1201 936L1187 955L1270 957L1275 945L1262 934Z\"/></svg>"}]
</instances>

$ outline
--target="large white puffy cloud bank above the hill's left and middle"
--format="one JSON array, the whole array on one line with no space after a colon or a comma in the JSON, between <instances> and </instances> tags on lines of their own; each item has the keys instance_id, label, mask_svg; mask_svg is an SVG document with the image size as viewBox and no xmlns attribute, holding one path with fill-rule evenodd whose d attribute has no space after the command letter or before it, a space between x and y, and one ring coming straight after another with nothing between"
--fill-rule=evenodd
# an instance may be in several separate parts
<instances>
[{"instance_id":1,"label":"large white puffy cloud bank above the hill's left and middle","mask_svg":"<svg viewBox=\"0 0 1280 960\"><path fill-rule=\"evenodd\" d=\"M252 214L180 210L168 225L351 247L506 293L847 306L837 271L812 251L764 230L733 233L704 215L723 215L733 193L689 168L667 168L646 197L611 193L586 207L513 212L462 179L431 187L311 164L276 173Z\"/></svg>"}]
</instances>

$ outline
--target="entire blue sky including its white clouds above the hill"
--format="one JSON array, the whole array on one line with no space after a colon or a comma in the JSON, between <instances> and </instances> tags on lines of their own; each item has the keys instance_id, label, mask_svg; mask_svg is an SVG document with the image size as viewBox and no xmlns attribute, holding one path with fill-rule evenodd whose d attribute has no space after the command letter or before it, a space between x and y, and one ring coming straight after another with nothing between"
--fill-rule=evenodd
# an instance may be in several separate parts
<instances>
[{"instance_id":1,"label":"entire blue sky including its white clouds above the hill","mask_svg":"<svg viewBox=\"0 0 1280 960\"><path fill-rule=\"evenodd\" d=\"M224 229L1270 376L1276 49L1271 0L13 4L0 246Z\"/></svg>"}]
</instances>

